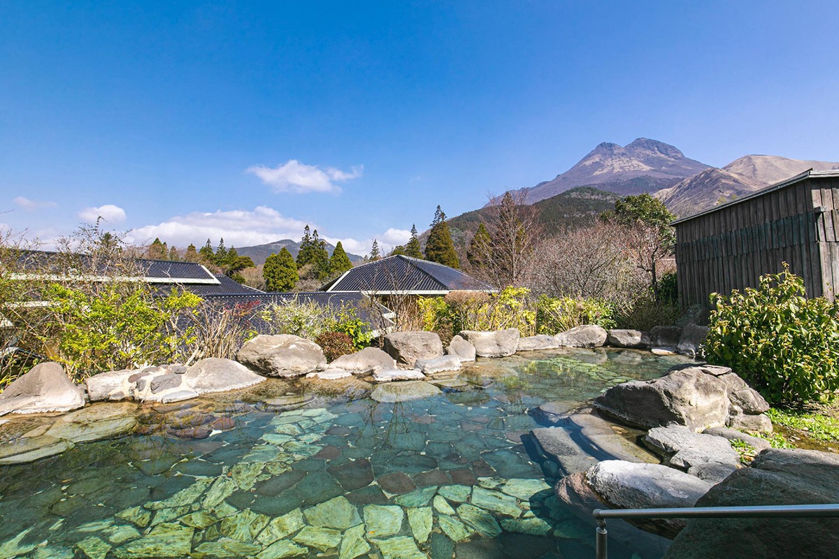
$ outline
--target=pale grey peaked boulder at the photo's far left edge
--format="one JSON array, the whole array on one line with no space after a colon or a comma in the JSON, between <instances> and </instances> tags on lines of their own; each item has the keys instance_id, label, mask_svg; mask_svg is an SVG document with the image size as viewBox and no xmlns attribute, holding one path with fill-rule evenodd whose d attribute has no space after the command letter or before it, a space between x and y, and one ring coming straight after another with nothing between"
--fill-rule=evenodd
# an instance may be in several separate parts
<instances>
[{"instance_id":1,"label":"pale grey peaked boulder at the photo's far left edge","mask_svg":"<svg viewBox=\"0 0 839 559\"><path fill-rule=\"evenodd\" d=\"M0 393L0 416L70 411L84 405L84 391L70 381L58 363L35 365Z\"/></svg>"}]
</instances>

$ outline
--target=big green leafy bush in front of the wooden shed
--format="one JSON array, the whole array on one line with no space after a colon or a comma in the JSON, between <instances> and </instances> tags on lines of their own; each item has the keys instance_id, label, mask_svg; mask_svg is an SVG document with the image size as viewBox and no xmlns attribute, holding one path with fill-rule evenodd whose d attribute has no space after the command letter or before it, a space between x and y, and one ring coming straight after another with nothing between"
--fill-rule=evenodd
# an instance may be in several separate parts
<instances>
[{"instance_id":1,"label":"big green leafy bush in front of the wooden shed","mask_svg":"<svg viewBox=\"0 0 839 559\"><path fill-rule=\"evenodd\" d=\"M806 298L786 263L758 289L711 299L709 363L731 367L770 402L813 401L839 389L839 307Z\"/></svg>"}]
</instances>

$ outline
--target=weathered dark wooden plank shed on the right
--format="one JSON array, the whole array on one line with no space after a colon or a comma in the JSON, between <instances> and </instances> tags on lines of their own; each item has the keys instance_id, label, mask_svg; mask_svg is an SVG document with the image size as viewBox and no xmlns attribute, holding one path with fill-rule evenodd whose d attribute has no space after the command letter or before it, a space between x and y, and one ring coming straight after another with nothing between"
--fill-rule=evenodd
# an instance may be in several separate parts
<instances>
[{"instance_id":1,"label":"weathered dark wooden plank shed on the right","mask_svg":"<svg viewBox=\"0 0 839 559\"><path fill-rule=\"evenodd\" d=\"M839 169L805 171L673 225L683 307L757 287L783 262L808 297L833 300L839 286Z\"/></svg>"}]
</instances>

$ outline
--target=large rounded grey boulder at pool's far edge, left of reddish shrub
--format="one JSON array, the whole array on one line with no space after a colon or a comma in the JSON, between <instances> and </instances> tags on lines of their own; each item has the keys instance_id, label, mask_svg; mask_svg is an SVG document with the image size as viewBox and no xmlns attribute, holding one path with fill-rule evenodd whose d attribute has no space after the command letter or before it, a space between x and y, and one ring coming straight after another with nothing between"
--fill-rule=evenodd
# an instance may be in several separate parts
<instances>
[{"instance_id":1,"label":"large rounded grey boulder at pool's far edge, left of reddish shrub","mask_svg":"<svg viewBox=\"0 0 839 559\"><path fill-rule=\"evenodd\" d=\"M242 345L236 360L263 375L281 378L326 369L320 345L292 334L258 335Z\"/></svg>"}]
</instances>

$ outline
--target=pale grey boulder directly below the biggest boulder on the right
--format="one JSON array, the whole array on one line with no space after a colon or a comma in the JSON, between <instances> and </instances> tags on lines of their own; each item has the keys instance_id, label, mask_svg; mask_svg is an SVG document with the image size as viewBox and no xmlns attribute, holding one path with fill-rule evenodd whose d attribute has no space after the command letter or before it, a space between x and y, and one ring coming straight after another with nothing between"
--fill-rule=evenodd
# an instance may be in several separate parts
<instances>
[{"instance_id":1,"label":"pale grey boulder directly below the biggest boulder on the right","mask_svg":"<svg viewBox=\"0 0 839 559\"><path fill-rule=\"evenodd\" d=\"M644 445L664 458L664 464L718 484L740 466L740 455L727 438L693 432L681 425L655 427Z\"/></svg>"}]
</instances>

